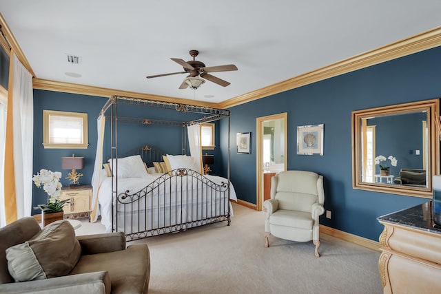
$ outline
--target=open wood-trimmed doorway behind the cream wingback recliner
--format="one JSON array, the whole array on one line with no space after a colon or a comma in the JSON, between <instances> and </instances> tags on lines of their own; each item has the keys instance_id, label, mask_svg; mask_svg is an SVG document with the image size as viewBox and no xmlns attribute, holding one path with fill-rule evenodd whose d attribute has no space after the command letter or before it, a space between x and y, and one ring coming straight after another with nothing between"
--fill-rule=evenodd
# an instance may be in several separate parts
<instances>
[{"instance_id":1,"label":"open wood-trimmed doorway behind the cream wingback recliner","mask_svg":"<svg viewBox=\"0 0 441 294\"><path fill-rule=\"evenodd\" d=\"M287 170L288 114L274 114L256 118L256 209L262 210L263 201L269 198L271 176Z\"/></svg>"}]
</instances>

